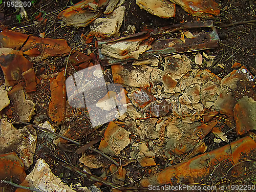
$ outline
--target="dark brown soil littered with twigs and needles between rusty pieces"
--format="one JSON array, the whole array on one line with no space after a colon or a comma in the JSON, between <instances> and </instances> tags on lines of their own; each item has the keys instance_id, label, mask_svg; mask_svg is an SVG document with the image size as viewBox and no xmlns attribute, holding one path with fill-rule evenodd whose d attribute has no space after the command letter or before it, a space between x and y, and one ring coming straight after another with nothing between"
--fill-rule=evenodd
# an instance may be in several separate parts
<instances>
[{"instance_id":1,"label":"dark brown soil littered with twigs and needles between rusty pieces","mask_svg":"<svg viewBox=\"0 0 256 192\"><path fill-rule=\"evenodd\" d=\"M73 0L72 3L78 3L78 0ZM220 47L216 49L207 50L206 53L208 55L215 55L216 59L214 65L211 67L206 67L206 65L202 65L201 69L208 69L212 73L218 75L220 78L223 78L227 74L229 74L233 69L231 66L234 62L240 62L244 65L252 75L256 75L256 23L249 23L244 25L236 25L231 27L222 27L223 25L227 25L235 22L243 22L246 20L256 19L256 2L254 1L245 1L245 0L224 0L224 1L216 1L219 3L221 8L221 14L217 17L214 17L212 20L214 21L214 26L216 26L218 34L220 36ZM192 20L197 20L198 18L193 17L182 10L179 6L177 6L177 14L176 18L163 19L157 16L154 16L145 10L141 10L135 3L135 0L130 0L125 2L125 18L122 24L120 34L122 35L126 29L127 25L135 25L136 32L142 31L146 28L158 28L163 26L169 26L173 24L177 24L180 22L189 22ZM30 9L27 9L27 13L29 16L29 21L23 20L19 23L16 19L16 11L14 8L6 8L0 5L0 12L4 13L4 18L1 22L1 25L8 26L9 29L18 29L26 34L33 34L34 36L39 36L40 33L45 32L46 37L49 38L63 38L66 39L69 46L74 48L81 44L80 36L81 34L86 34L90 31L90 27L86 28L74 28L74 27L63 27L60 24L59 19L57 18L58 13L66 9L68 6L71 6L71 1L41 1L38 0ZM47 18L46 23L40 22L38 25L33 25L36 20L36 16L39 12L43 13L43 17ZM203 20L202 18L200 20ZM90 49L95 55L98 55L97 49L95 48L95 41L93 41L86 45L82 45L80 47L80 51L87 54L87 50ZM194 59L194 53L186 53L187 57L191 60ZM50 75L54 74L62 69L65 69L65 57L62 58L47 58L42 61L34 62L34 69L36 75ZM219 65L221 64L221 65ZM111 69L111 67L104 67L104 69ZM67 76L73 74L74 71L72 68L69 68L67 71ZM0 82L4 82L3 72L0 72ZM33 102L36 104L36 114L47 114L48 113L48 103L50 102L50 87L49 83L40 84L38 87L38 92L31 94L31 98ZM7 109L11 108L9 106ZM97 129L91 129L90 123L86 119L86 110L84 109L74 109L70 106L67 106L66 110L72 114L69 117L69 121L65 121L64 123L54 123L50 121L50 118L46 116L46 118L52 123L52 125L58 130L58 132L67 127L72 126L76 127L76 130L81 134L79 142L87 143L88 141L93 140L97 137L98 134L103 135L106 129L106 124L102 125ZM68 113L67 112L67 113ZM72 112L72 113L71 113ZM20 124L14 124L16 129L21 127ZM224 127L224 130L227 131L230 128L228 126ZM234 130L229 132L230 140L234 141L239 138ZM204 141L208 146L206 152L210 152L224 146L225 142L221 142L219 144L213 141L214 136L212 134L208 134ZM50 165L52 173L58 176L64 183L70 185L75 185L77 183L81 183L82 186L91 186L94 182L90 181L85 177L81 177L70 170L62 167L60 164L53 161L49 158L46 153L55 154L58 158L61 158L67 162L71 162L73 165L77 167L81 167L78 159L81 157L81 154L76 153L77 146L72 144L61 144L60 146L55 146L52 142L51 138L46 135L41 135L37 139L37 148L34 155L34 164L37 159L42 158L45 159L46 162ZM99 143L98 143L99 144ZM95 146L98 147L98 144ZM93 153L92 151L87 151L89 154ZM127 154L130 154L130 149L126 150ZM112 157L116 161L119 161L117 157ZM127 158L123 158L122 160L127 160ZM186 155L181 155L177 157L172 165L182 162L186 159ZM165 159L163 158L155 158L157 167L154 168L154 172L159 172L160 170L166 167ZM105 163L110 162L105 160ZM29 169L26 170L26 173L29 174L34 167L34 164L31 165ZM211 181L202 181L202 183L208 185L220 185L220 184L254 184L256 182L256 172L255 172L255 163L248 162L248 166L246 167L247 173L239 178L229 177L227 178L222 172L225 172L226 166L223 168L217 168L215 170L215 176L211 178ZM142 177L147 177L148 168L138 166L138 163L130 163L125 166L126 170L130 172L130 178L133 180L138 180ZM103 173L103 168L91 169L91 173L96 176L101 176ZM126 177L124 183L129 183L129 177ZM127 187L138 187L135 183L133 185L127 185ZM109 187L101 187L102 191L110 191ZM143 189L139 191L144 191ZM226 190L231 191L231 190ZM232 190L238 191L238 190Z\"/></svg>"}]
</instances>

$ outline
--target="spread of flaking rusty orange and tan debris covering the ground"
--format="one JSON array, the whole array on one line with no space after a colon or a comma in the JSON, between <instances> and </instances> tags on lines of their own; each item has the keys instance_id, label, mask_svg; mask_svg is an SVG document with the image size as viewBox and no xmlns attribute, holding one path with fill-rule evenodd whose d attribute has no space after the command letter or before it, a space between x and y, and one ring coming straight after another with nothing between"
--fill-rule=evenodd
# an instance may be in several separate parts
<instances>
[{"instance_id":1,"label":"spread of flaking rusty orange and tan debris covering the ground","mask_svg":"<svg viewBox=\"0 0 256 192\"><path fill-rule=\"evenodd\" d=\"M220 13L214 1L196 2L137 0L136 4L163 18L175 17L176 4L194 16ZM127 35L120 37L123 3L87 0L58 14L67 26L90 24L84 39L88 44L90 38L97 39L97 54L71 49L64 39L3 28L0 167L6 174L0 181L18 176L14 183L42 191L95 191L102 184L119 191L207 182L220 162L231 167L226 175L238 177L243 169L234 165L255 158L256 79L240 63L223 78L202 69L216 59L208 51L218 48L219 41L212 21L138 33L128 26ZM195 54L191 57L188 52ZM66 65L51 74L34 69L34 62L49 57L66 57ZM240 139L233 141L230 133ZM89 142L83 142L85 135L90 135ZM211 142L224 146L207 151ZM89 189L62 183L41 158L26 175L34 154L43 153L47 145L68 152L70 143L79 145L76 162L48 157L94 181ZM9 167L10 162L15 163ZM148 171L145 176L136 172L136 178L134 167ZM93 175L95 169L100 177Z\"/></svg>"}]
</instances>

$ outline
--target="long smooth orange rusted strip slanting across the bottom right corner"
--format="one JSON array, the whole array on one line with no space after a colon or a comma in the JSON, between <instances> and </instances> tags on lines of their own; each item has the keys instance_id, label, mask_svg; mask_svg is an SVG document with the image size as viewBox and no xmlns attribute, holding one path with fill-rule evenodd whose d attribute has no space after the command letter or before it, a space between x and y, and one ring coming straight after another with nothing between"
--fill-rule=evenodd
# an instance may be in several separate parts
<instances>
[{"instance_id":1,"label":"long smooth orange rusted strip slanting across the bottom right corner","mask_svg":"<svg viewBox=\"0 0 256 192\"><path fill-rule=\"evenodd\" d=\"M225 145L217 150L196 156L177 165L167 167L158 175L143 179L141 184L144 187L148 187L150 184L160 186L170 183L171 185L174 185L176 183L189 181L191 178L200 179L212 173L214 167L221 161L227 160L232 164L236 164L246 155L250 157L251 152L255 151L255 148L255 141L251 137L246 136L231 142L230 145ZM236 167L233 169L236 169ZM174 178L177 179L177 182Z\"/></svg>"}]
</instances>

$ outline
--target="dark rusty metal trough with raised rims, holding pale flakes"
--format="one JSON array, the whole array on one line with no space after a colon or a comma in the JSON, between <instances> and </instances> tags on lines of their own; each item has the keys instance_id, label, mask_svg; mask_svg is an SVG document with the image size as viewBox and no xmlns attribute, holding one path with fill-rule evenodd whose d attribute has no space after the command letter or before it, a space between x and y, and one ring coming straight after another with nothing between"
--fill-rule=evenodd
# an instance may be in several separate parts
<instances>
[{"instance_id":1,"label":"dark rusty metal trough with raised rims, holding pale flakes","mask_svg":"<svg viewBox=\"0 0 256 192\"><path fill-rule=\"evenodd\" d=\"M158 36L162 36L167 33L172 33L178 30L188 29L188 28L209 28L209 30L206 32L202 31L199 33L194 33L194 38L192 39L185 38L185 42L183 42L180 38L168 38L168 39L158 38ZM147 39L145 39L145 37L147 37ZM151 39L151 41L148 41L150 42L148 44L148 47L151 47L151 48L139 54L138 60L162 57L162 56L183 53L183 52L211 49L219 46L218 45L219 35L217 33L216 28L212 26L212 21L194 22L194 23L188 22L185 24L178 24L175 26L163 27L156 30L148 31L148 33L146 34L143 32L137 35L121 37L119 39L114 39L110 41L98 41L98 53L99 53L99 58L102 61L102 65L108 66L116 63L123 63L125 61L136 60L130 57L118 59L118 58L106 56L101 51L102 47L105 47L106 45L112 46L115 43L126 44L131 41L135 41L139 39L141 40L141 44L142 44L146 40L148 40L148 38ZM170 45L173 45L173 46L170 46Z\"/></svg>"}]
</instances>

